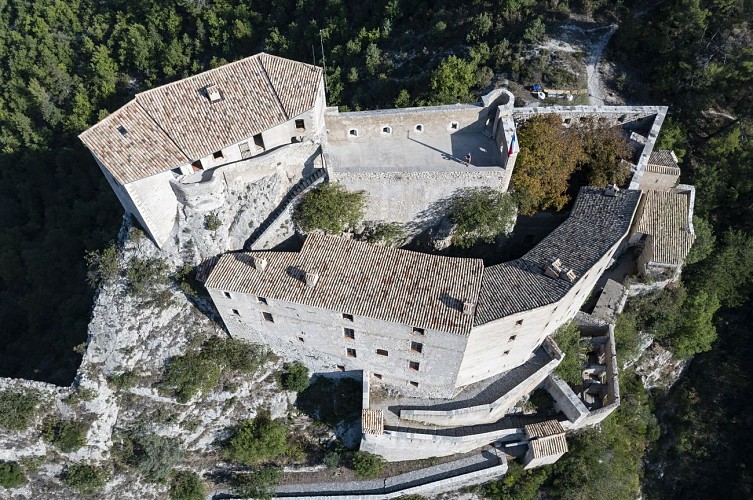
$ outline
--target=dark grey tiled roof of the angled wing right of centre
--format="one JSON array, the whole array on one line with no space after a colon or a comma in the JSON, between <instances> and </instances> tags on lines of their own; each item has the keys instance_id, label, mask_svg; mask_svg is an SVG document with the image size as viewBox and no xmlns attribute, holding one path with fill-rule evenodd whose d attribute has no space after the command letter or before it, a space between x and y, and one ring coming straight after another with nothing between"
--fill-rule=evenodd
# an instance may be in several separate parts
<instances>
[{"instance_id":1,"label":"dark grey tiled roof of the angled wing right of centre","mask_svg":"<svg viewBox=\"0 0 753 500\"><path fill-rule=\"evenodd\" d=\"M560 300L630 229L640 191L605 196L581 188L570 216L523 257L484 270L476 325ZM551 278L545 267L560 259L575 272L574 282Z\"/></svg>"}]
</instances>

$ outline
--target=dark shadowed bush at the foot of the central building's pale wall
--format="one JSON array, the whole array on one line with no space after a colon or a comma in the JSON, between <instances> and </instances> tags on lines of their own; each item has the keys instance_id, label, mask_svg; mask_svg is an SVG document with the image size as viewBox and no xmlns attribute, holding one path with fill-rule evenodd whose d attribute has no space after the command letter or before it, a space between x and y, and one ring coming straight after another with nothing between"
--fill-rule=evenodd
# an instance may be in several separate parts
<instances>
[{"instance_id":1,"label":"dark shadowed bush at the foot of the central building's pale wall","mask_svg":"<svg viewBox=\"0 0 753 500\"><path fill-rule=\"evenodd\" d=\"M306 415L337 427L361 418L361 384L352 378L316 377L298 395L296 405Z\"/></svg>"}]
</instances>

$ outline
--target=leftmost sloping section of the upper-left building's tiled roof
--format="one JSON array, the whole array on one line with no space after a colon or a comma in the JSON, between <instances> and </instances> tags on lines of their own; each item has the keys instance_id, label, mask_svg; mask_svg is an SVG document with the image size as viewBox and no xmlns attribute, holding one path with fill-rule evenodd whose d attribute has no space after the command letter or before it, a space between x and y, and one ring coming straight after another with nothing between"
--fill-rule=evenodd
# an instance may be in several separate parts
<instances>
[{"instance_id":1,"label":"leftmost sloping section of the upper-left building's tiled roof","mask_svg":"<svg viewBox=\"0 0 753 500\"><path fill-rule=\"evenodd\" d=\"M136 101L129 102L79 137L121 184L189 162Z\"/></svg>"}]
</instances>

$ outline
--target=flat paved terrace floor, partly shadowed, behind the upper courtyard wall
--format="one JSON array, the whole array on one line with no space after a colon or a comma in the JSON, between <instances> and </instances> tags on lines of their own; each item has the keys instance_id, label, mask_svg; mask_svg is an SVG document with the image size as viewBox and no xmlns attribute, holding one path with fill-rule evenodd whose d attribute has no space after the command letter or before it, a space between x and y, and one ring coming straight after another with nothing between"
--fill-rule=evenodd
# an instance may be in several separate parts
<instances>
[{"instance_id":1,"label":"flat paved terrace floor, partly shadowed, behind the upper courtyard wall","mask_svg":"<svg viewBox=\"0 0 753 500\"><path fill-rule=\"evenodd\" d=\"M397 132L396 132L397 133ZM500 154L495 142L479 132L454 134L403 132L404 137L372 137L368 142L330 142L327 166L339 171L457 171L491 167L498 169ZM464 161L471 153L471 167Z\"/></svg>"}]
</instances>

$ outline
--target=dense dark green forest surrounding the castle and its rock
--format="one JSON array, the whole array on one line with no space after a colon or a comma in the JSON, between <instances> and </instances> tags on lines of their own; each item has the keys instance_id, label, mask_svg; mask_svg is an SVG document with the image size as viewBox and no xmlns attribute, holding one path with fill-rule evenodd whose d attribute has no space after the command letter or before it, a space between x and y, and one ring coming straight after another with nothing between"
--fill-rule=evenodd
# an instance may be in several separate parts
<instances>
[{"instance_id":1,"label":"dense dark green forest surrounding the castle and its rock","mask_svg":"<svg viewBox=\"0 0 753 500\"><path fill-rule=\"evenodd\" d=\"M686 292L650 326L684 354L713 349L668 394L626 372L601 432L484 492L635 498L642 484L651 498L750 498L750 0L0 0L0 376L75 374L94 293L84 255L116 237L122 213L76 136L135 93L260 50L326 63L328 100L344 109L469 101L502 78L568 83L530 47L571 13L619 24L608 54L619 87L670 106L660 147L697 187L698 241ZM716 342L680 343L706 323Z\"/></svg>"}]
</instances>

